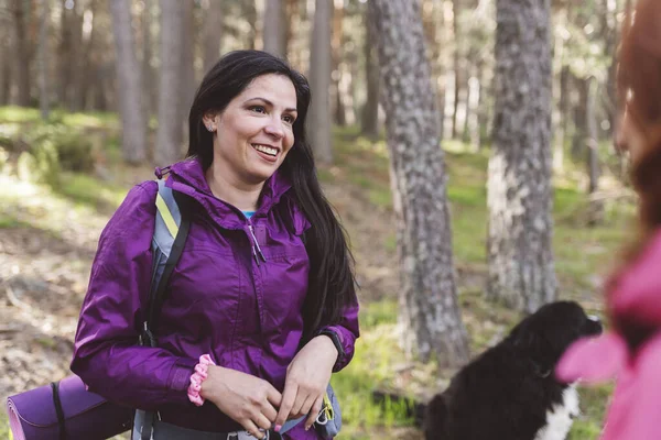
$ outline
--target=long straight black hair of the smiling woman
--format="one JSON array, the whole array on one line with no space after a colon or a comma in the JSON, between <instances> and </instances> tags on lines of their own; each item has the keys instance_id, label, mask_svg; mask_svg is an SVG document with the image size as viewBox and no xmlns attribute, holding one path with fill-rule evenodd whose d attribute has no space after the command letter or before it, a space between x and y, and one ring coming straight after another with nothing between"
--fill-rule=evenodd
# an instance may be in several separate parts
<instances>
[{"instance_id":1,"label":"long straight black hair of the smiling woman","mask_svg":"<svg viewBox=\"0 0 661 440\"><path fill-rule=\"evenodd\" d=\"M203 123L208 112L220 113L254 78L275 74L291 79L296 90L297 118L294 145L280 166L292 183L295 201L312 228L305 234L310 257L307 296L303 306L305 338L323 326L337 323L344 309L357 301L354 257L344 229L322 193L314 155L305 136L305 118L311 101L307 79L285 61L261 51L236 51L225 55L205 75L188 116L187 157L197 156L206 170L214 161L214 138Z\"/></svg>"}]
</instances>

